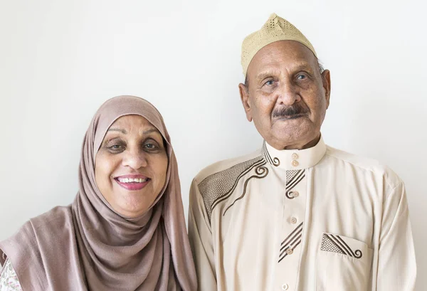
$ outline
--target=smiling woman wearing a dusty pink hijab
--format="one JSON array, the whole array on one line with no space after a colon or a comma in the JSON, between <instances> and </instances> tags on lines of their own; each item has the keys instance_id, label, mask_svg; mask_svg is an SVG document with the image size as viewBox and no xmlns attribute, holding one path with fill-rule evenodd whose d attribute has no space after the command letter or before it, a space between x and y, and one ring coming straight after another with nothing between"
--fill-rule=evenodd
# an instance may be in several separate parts
<instances>
[{"instance_id":1,"label":"smiling woman wearing a dusty pink hijab","mask_svg":"<svg viewBox=\"0 0 427 291\"><path fill-rule=\"evenodd\" d=\"M74 202L1 242L0 265L0 291L196 290L176 159L153 105L120 96L100 107Z\"/></svg>"}]
</instances>

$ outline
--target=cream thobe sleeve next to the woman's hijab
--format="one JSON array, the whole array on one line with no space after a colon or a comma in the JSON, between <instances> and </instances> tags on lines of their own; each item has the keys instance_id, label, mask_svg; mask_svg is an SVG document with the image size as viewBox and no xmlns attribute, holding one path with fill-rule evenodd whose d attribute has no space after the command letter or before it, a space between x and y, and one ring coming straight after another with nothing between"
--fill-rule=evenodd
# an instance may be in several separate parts
<instances>
[{"instance_id":1,"label":"cream thobe sleeve next to the woman's hijab","mask_svg":"<svg viewBox=\"0 0 427 291\"><path fill-rule=\"evenodd\" d=\"M195 179L190 188L189 238L196 265L198 290L217 290L211 223Z\"/></svg>"}]
</instances>

